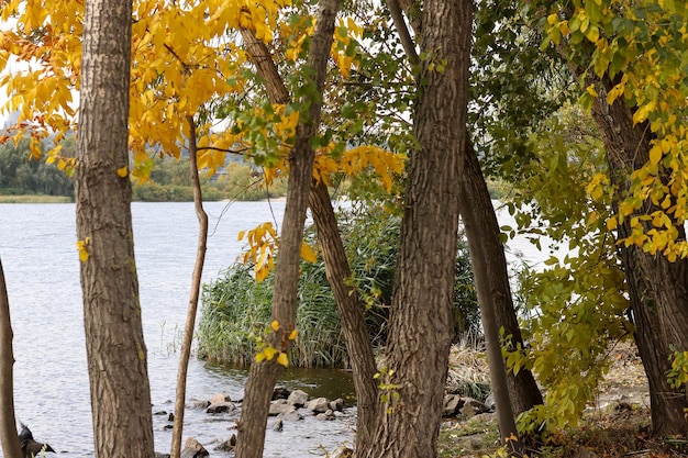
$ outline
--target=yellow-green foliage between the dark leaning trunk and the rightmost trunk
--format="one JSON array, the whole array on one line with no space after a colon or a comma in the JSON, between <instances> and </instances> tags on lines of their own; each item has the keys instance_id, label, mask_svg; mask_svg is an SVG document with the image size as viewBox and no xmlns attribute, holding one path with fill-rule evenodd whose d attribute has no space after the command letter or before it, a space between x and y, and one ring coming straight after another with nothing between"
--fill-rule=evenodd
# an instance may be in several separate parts
<instances>
[{"instance_id":1,"label":"yellow-green foliage between the dark leaning trunk and the rightmost trunk","mask_svg":"<svg viewBox=\"0 0 688 458\"><path fill-rule=\"evenodd\" d=\"M522 234L539 247L541 237L548 237L550 246L542 248L551 257L520 275L529 348L506 350L512 370L533 370L545 388L545 405L521 418L524 429L576 424L607 369L609 343L632 329L624 315L623 273L606 227L610 190L602 189L597 200L589 196L589 182L604 171L589 118L567 107L547 131L531 136L530 147L534 159L509 205Z\"/></svg>"}]
</instances>

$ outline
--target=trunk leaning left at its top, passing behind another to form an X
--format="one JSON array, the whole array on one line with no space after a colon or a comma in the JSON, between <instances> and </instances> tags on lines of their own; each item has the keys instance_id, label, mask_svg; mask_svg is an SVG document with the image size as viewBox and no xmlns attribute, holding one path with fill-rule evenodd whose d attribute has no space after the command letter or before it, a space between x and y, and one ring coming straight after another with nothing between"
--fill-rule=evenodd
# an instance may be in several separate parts
<instances>
[{"instance_id":1,"label":"trunk leaning left at its top, passing behind another to form an X","mask_svg":"<svg viewBox=\"0 0 688 458\"><path fill-rule=\"evenodd\" d=\"M242 38L252 60L256 64L258 75L266 81L266 91L270 101L289 103L291 98L267 46L249 30L242 30ZM374 379L377 372L375 356L366 331L360 297L355 288L346 283L352 272L328 187L322 182L313 181L309 203L318 228L328 282L337 304L342 333L352 364L358 412L355 448L358 449L370 442L370 433L377 421L378 390Z\"/></svg>"}]
</instances>

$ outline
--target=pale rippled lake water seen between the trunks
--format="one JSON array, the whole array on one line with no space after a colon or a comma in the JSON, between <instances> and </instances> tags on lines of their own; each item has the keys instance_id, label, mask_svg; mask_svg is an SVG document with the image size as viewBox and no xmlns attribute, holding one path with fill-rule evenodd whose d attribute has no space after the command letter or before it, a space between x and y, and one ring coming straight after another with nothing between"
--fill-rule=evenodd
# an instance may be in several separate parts
<instances>
[{"instance_id":1,"label":"pale rippled lake water seen between the trunks","mask_svg":"<svg viewBox=\"0 0 688 458\"><path fill-rule=\"evenodd\" d=\"M284 203L206 204L211 235L203 280L215 278L238 256L242 230L265 221L281 223ZM134 236L148 348L153 412L174 411L177 358L174 351L189 301L198 223L192 203L134 203ZM64 457L92 457L92 423L84 344L79 266L75 248L74 204L0 204L0 257L4 268L14 331L14 403L18 420ZM243 396L246 373L191 360L187 400L218 392ZM342 371L288 371L284 384L312 394L351 395ZM232 434L235 415L210 416L190 410L185 437L212 448ZM154 415L157 451L169 451L167 415ZM322 456L351 442L353 417L335 422L307 418L268 431L266 457Z\"/></svg>"}]
</instances>

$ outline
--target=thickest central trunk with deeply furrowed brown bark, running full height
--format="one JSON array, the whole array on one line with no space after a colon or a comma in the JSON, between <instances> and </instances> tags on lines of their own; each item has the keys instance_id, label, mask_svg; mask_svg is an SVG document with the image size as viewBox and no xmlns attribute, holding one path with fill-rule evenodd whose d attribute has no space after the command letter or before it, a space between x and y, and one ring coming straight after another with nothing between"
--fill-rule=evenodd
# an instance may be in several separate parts
<instances>
[{"instance_id":1,"label":"thickest central trunk with deeply furrowed brown bark, running full height","mask_svg":"<svg viewBox=\"0 0 688 458\"><path fill-rule=\"evenodd\" d=\"M365 450L367 458L436 456L452 342L452 298L458 243L460 149L465 142L473 2L423 4L422 63L392 294L387 368L388 402ZM444 71L429 63L445 64ZM431 67L432 68L432 67Z\"/></svg>"}]
</instances>

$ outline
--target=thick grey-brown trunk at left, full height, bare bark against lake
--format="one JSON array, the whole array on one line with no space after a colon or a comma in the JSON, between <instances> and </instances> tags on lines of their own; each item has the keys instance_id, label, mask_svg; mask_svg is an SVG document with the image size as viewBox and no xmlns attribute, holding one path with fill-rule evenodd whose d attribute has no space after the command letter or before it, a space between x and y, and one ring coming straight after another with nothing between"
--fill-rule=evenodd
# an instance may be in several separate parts
<instances>
[{"instance_id":1,"label":"thick grey-brown trunk at left, full height, bare bark against lake","mask_svg":"<svg viewBox=\"0 0 688 458\"><path fill-rule=\"evenodd\" d=\"M154 455L134 260L127 121L131 0L87 1L75 176L96 456Z\"/></svg>"}]
</instances>

